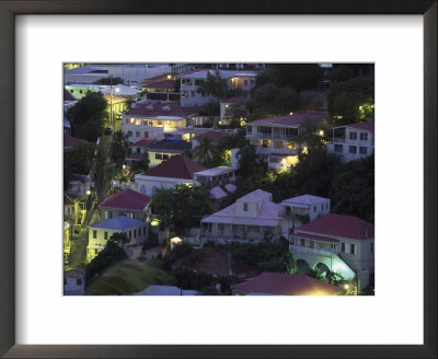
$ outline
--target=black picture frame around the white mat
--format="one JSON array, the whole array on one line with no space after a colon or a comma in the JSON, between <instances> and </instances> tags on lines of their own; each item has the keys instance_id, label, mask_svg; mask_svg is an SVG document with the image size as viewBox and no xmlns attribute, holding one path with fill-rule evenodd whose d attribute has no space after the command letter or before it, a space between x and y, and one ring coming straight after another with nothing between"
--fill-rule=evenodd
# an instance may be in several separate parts
<instances>
[{"instance_id":1,"label":"black picture frame around the white mat","mask_svg":"<svg viewBox=\"0 0 438 359\"><path fill-rule=\"evenodd\" d=\"M420 14L424 19L424 345L15 345L14 19L18 14ZM4 358L437 358L436 0L0 0L0 355ZM351 327L351 329L354 329Z\"/></svg>"}]
</instances>

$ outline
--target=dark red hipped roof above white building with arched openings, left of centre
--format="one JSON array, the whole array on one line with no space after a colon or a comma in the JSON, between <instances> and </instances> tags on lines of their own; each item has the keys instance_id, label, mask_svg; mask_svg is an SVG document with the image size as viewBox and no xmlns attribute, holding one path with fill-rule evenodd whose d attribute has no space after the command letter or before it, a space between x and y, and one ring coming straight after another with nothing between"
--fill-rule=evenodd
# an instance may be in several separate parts
<instances>
[{"instance_id":1,"label":"dark red hipped roof above white building with arched openings, left of centre","mask_svg":"<svg viewBox=\"0 0 438 359\"><path fill-rule=\"evenodd\" d=\"M172 155L168 161L145 173L146 176L193 180L193 174L207 170L185 155Z\"/></svg>"}]
</instances>

